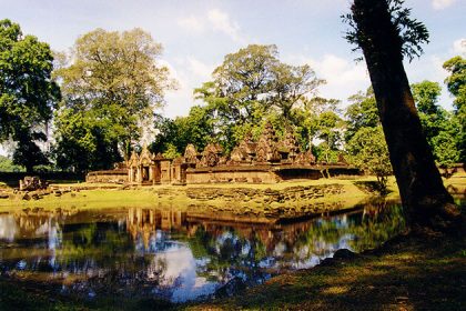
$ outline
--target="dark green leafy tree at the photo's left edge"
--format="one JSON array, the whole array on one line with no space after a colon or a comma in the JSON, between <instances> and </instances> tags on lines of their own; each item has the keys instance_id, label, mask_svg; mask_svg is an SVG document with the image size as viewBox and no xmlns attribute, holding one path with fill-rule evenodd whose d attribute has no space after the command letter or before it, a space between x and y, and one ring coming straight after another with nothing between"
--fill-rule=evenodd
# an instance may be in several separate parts
<instances>
[{"instance_id":1,"label":"dark green leafy tree at the photo's left edge","mask_svg":"<svg viewBox=\"0 0 466 311\"><path fill-rule=\"evenodd\" d=\"M43 130L60 99L52 61L47 43L23 36L10 20L0 21L0 142L17 142L14 163L28 172L48 162L37 141L47 139Z\"/></svg>"}]
</instances>

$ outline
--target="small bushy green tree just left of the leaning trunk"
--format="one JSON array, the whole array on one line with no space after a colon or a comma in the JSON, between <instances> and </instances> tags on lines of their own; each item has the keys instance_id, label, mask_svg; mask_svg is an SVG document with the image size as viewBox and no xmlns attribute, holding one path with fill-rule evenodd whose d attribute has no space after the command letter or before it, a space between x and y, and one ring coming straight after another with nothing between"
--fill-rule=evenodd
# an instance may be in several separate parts
<instances>
[{"instance_id":1,"label":"small bushy green tree just left of the leaning trunk","mask_svg":"<svg viewBox=\"0 0 466 311\"><path fill-rule=\"evenodd\" d=\"M348 141L346 149L351 162L365 172L376 175L381 192L386 193L392 164L382 127L359 129Z\"/></svg>"}]
</instances>

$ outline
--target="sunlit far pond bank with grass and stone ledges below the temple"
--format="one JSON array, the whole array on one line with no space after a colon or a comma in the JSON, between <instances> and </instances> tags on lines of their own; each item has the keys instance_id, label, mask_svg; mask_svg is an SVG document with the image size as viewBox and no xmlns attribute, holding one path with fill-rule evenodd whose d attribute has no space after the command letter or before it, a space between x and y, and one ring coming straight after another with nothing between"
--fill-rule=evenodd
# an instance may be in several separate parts
<instances>
[{"instance_id":1,"label":"sunlit far pond bank with grass and stone ledges below the temple","mask_svg":"<svg viewBox=\"0 0 466 311\"><path fill-rule=\"evenodd\" d=\"M129 187L116 184L51 184L32 192L0 190L0 211L43 208L104 209L115 207L170 207L241 211L252 214L322 213L344 210L373 193L371 180L303 180L278 184L199 184ZM395 188L395 187L393 187ZM396 192L393 191L396 197Z\"/></svg>"}]
</instances>

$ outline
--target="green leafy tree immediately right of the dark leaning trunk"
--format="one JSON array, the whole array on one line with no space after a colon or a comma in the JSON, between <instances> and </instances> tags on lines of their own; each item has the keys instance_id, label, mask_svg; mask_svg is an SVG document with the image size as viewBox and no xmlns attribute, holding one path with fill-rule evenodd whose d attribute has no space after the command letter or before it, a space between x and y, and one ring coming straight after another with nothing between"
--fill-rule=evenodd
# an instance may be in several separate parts
<instances>
[{"instance_id":1,"label":"green leafy tree immediately right of the dark leaning trunk","mask_svg":"<svg viewBox=\"0 0 466 311\"><path fill-rule=\"evenodd\" d=\"M456 148L459 126L453 116L437 104L442 88L437 82L423 81L412 84L413 97L421 123L437 163L448 165L459 160Z\"/></svg>"}]
</instances>

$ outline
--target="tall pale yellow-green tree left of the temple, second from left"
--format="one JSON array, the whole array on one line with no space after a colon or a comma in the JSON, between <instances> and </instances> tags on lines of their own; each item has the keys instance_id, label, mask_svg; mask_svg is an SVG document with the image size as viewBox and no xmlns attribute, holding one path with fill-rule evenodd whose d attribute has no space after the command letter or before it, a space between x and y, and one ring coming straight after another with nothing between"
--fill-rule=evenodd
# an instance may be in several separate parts
<instances>
[{"instance_id":1,"label":"tall pale yellow-green tree left of the temple, second from left","mask_svg":"<svg viewBox=\"0 0 466 311\"><path fill-rule=\"evenodd\" d=\"M59 116L68 113L65 109L75 113L91 111L89 116L98 122L84 118L91 123L82 126L101 136L94 137L102 143L95 152L120 150L126 158L131 144L142 134L142 124L164 103L164 91L174 87L169 69L156 61L161 52L162 46L138 28L123 32L97 29L83 34L71 54L62 57L57 70L64 96Z\"/></svg>"}]
</instances>

